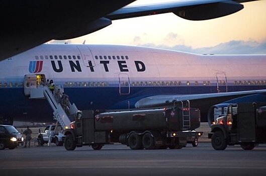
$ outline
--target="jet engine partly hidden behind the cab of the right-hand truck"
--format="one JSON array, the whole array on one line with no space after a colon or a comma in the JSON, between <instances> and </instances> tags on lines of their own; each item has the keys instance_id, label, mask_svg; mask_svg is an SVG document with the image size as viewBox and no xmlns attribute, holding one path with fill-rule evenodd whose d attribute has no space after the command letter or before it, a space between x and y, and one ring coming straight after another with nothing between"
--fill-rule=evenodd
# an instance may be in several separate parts
<instances>
[{"instance_id":1,"label":"jet engine partly hidden behind the cab of the right-hand truck","mask_svg":"<svg viewBox=\"0 0 266 176\"><path fill-rule=\"evenodd\" d=\"M208 123L211 127L212 123L217 121L219 117L226 116L227 107L230 105L229 103L218 104L212 106L208 111Z\"/></svg>"}]
</instances>

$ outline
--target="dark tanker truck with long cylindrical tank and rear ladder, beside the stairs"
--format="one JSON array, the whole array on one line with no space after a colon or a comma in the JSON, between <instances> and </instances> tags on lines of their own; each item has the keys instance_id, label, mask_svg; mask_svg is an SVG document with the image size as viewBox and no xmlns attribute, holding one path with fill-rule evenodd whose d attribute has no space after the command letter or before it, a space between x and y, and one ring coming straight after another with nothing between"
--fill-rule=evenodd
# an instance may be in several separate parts
<instances>
[{"instance_id":1,"label":"dark tanker truck with long cylindrical tank and rear ladder, beside the stairs","mask_svg":"<svg viewBox=\"0 0 266 176\"><path fill-rule=\"evenodd\" d=\"M131 149L181 149L191 141L198 145L200 111L190 107L80 111L64 131L66 150L120 142Z\"/></svg>"}]
</instances>

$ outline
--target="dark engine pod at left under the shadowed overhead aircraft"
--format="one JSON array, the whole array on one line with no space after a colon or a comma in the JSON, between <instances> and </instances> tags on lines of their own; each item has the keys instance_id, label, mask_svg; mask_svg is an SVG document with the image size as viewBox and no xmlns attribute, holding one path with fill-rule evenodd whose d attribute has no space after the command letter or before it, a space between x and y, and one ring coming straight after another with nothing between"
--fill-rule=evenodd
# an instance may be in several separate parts
<instances>
[{"instance_id":1,"label":"dark engine pod at left under the shadowed overhead aircraft","mask_svg":"<svg viewBox=\"0 0 266 176\"><path fill-rule=\"evenodd\" d=\"M88 23L85 26L80 27L77 30L72 31L69 34L57 37L57 38L55 38L55 40L67 40L67 39L80 37L80 36L98 31L100 29L103 29L103 28L105 28L111 24L112 24L112 21L110 19L100 18L100 19L97 19L91 23Z\"/></svg>"}]
</instances>

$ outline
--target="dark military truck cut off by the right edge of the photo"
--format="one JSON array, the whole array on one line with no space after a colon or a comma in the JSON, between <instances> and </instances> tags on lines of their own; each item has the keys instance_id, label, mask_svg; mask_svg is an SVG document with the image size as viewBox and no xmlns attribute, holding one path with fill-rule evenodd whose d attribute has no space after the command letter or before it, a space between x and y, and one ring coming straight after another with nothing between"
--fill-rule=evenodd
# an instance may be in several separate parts
<instances>
[{"instance_id":1,"label":"dark military truck cut off by the right edge of the photo","mask_svg":"<svg viewBox=\"0 0 266 176\"><path fill-rule=\"evenodd\" d=\"M265 131L266 103L230 104L226 116L213 122L208 137L215 150L235 144L252 150L259 143L266 143Z\"/></svg>"}]
</instances>

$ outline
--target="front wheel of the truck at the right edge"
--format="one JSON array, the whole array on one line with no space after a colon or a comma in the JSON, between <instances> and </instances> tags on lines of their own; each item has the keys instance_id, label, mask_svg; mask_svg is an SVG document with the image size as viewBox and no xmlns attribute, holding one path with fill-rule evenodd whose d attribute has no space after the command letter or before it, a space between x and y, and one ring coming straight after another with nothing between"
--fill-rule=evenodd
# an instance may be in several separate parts
<instances>
[{"instance_id":1,"label":"front wheel of the truck at the right edge","mask_svg":"<svg viewBox=\"0 0 266 176\"><path fill-rule=\"evenodd\" d=\"M212 147L215 150L224 150L227 147L227 140L222 131L216 131L212 135Z\"/></svg>"}]
</instances>

